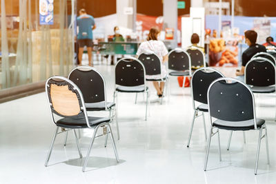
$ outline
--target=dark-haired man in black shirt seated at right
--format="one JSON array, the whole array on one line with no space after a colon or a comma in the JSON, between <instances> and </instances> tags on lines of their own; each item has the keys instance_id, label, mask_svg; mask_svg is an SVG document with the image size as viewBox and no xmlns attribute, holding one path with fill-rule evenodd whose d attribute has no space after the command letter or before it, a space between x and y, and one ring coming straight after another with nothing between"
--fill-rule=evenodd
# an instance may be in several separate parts
<instances>
[{"instance_id":1,"label":"dark-haired man in black shirt seated at right","mask_svg":"<svg viewBox=\"0 0 276 184\"><path fill-rule=\"evenodd\" d=\"M266 48L264 45L259 45L256 43L257 40L257 32L254 30L247 30L244 32L246 44L249 46L243 53L242 53L242 68L241 70L237 70L236 75L242 76L244 75L244 69L246 67L246 63L250 61L250 59L258 52L266 52Z\"/></svg>"}]
</instances>

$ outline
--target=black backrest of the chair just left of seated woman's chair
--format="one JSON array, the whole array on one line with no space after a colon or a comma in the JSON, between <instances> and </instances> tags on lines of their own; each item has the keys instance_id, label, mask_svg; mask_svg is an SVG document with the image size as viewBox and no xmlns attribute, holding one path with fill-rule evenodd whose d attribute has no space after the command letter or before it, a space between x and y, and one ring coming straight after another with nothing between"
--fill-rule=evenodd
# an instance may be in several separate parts
<instances>
[{"instance_id":1,"label":"black backrest of the chair just left of seated woman's chair","mask_svg":"<svg viewBox=\"0 0 276 184\"><path fill-rule=\"evenodd\" d=\"M144 65L135 57L120 59L115 65L115 84L122 86L145 85L146 76ZM146 89L146 85L145 85Z\"/></svg>"}]
</instances>

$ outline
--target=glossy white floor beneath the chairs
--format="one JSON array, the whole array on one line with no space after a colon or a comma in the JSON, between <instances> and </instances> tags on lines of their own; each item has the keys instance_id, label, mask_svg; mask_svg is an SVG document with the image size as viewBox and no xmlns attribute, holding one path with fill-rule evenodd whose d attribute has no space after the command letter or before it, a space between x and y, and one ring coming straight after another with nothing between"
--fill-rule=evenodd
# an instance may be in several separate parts
<instances>
[{"instance_id":1,"label":"glossy white floor beneath the chairs","mask_svg":"<svg viewBox=\"0 0 276 184\"><path fill-rule=\"evenodd\" d=\"M114 68L96 66L106 78L108 99L112 100ZM235 68L224 69L231 76ZM104 138L96 139L88 162L88 172L81 172L84 159L79 154L72 132L63 147L63 134L57 136L50 166L44 167L55 125L44 93L0 104L0 183L276 183L275 96L259 95L257 116L268 123L270 165L266 164L265 142L259 156L258 175L254 175L258 133L234 132L230 151L226 151L229 132L221 131L222 161L219 162L217 137L210 147L208 171L204 172L206 141L201 119L197 119L190 148L186 147L193 110L190 88L181 89L172 79L170 98L160 105L152 90L150 117L144 121L143 96L135 105L135 94L119 94L117 141L120 163L112 145L103 147ZM206 119L208 114L206 114ZM207 123L208 121L206 121ZM208 125L208 123L207 123ZM115 123L112 123L115 137ZM208 125L209 127L209 125ZM207 130L209 130L207 127ZM80 139L86 156L92 132Z\"/></svg>"}]
</instances>

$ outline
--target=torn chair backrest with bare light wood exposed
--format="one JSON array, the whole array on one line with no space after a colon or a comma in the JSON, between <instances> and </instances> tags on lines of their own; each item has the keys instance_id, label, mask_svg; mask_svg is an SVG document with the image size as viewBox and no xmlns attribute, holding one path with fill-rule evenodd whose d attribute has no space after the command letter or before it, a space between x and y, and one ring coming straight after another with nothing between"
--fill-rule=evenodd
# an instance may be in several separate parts
<instances>
[{"instance_id":1,"label":"torn chair backrest with bare light wood exposed","mask_svg":"<svg viewBox=\"0 0 276 184\"><path fill-rule=\"evenodd\" d=\"M50 77L46 81L46 94L52 113L63 117L86 116L81 90L69 79Z\"/></svg>"}]
</instances>

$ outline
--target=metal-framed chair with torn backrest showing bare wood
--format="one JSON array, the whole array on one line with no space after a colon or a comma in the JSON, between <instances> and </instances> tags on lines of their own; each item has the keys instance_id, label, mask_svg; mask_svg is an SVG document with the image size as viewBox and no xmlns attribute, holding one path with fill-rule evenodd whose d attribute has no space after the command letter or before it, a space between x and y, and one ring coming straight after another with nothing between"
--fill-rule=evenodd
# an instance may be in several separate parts
<instances>
[{"instance_id":1,"label":"metal-framed chair with torn backrest showing bare wood","mask_svg":"<svg viewBox=\"0 0 276 184\"><path fill-rule=\"evenodd\" d=\"M94 130L93 136L88 148L86 155L86 160L83 163L82 171L85 172L86 165L88 163L89 155L91 152L92 145L95 141L96 134L99 130L99 127L103 127L103 131L107 134L110 133L113 150L117 162L119 162L119 157L117 154L117 149L115 141L113 138L112 130L109 125L109 118L100 118L95 116L88 116L86 112L85 102L83 100L83 95L81 90L69 79L66 79L63 76L52 76L48 81L46 81L46 94L48 97L48 103L50 106L50 112L52 117L52 122L57 125L55 134L52 138L52 143L50 145L50 150L46 159L45 166L48 166L48 161L52 153L52 147L55 143L57 134L59 134L59 127L66 128L68 130L73 130L75 135L75 140L77 143L77 148L79 150L79 156L82 158L81 150L79 148L79 141L77 139L77 134L75 129L90 128ZM58 121L55 120L54 114L60 116L61 119ZM105 134L103 133L103 134Z\"/></svg>"}]
</instances>

